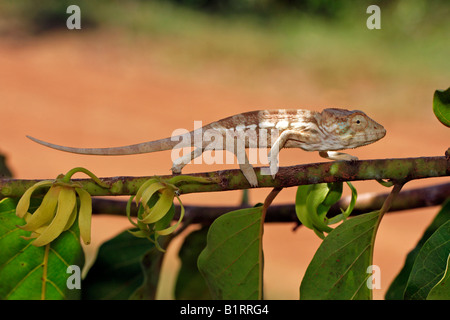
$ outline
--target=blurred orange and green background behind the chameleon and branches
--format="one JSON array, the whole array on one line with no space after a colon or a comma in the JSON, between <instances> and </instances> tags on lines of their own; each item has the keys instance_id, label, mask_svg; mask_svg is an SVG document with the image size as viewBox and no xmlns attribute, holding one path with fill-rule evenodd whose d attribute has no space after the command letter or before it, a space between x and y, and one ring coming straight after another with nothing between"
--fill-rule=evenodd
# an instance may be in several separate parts
<instances>
[{"instance_id":1,"label":"blurred orange and green background behind the chameleon and branches","mask_svg":"<svg viewBox=\"0 0 450 320\"><path fill-rule=\"evenodd\" d=\"M375 3L373 3L375 2ZM69 5L81 29L69 30ZM367 7L381 9L370 30ZM170 151L96 157L39 146L32 135L62 145L106 147L165 138L257 109L360 109L383 124L381 141L350 153L360 159L443 155L448 128L432 112L436 89L450 76L450 3L446 0L171 0L0 2L0 153L15 178L54 178L83 166L100 177L170 173ZM323 161L284 150L281 165ZM237 168L188 165L184 173ZM426 179L405 189L446 182ZM385 192L376 182L359 193ZM268 189L250 191L252 204ZM295 188L275 203L292 203ZM241 192L189 194L183 202L238 205ZM374 263L383 299L406 254L438 208L383 219ZM98 245L129 228L122 217L97 215ZM265 294L298 299L301 278L320 240L294 224L265 228ZM169 248L161 299L172 298L177 250Z\"/></svg>"}]
</instances>

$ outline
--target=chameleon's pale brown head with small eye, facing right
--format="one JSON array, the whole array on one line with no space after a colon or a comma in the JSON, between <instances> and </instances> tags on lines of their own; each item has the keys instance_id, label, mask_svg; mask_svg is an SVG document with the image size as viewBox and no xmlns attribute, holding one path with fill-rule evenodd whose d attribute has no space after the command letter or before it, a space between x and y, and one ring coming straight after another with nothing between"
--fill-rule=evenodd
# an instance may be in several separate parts
<instances>
[{"instance_id":1,"label":"chameleon's pale brown head with small eye, facing right","mask_svg":"<svg viewBox=\"0 0 450 320\"><path fill-rule=\"evenodd\" d=\"M321 127L330 137L328 150L352 149L374 143L386 135L386 129L359 110L325 109Z\"/></svg>"}]
</instances>

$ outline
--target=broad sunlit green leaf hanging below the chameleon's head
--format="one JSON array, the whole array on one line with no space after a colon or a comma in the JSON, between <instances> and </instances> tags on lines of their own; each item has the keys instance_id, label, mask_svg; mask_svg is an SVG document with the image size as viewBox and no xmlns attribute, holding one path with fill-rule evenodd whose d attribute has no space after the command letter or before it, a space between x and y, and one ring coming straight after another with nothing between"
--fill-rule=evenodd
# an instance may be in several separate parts
<instances>
[{"instance_id":1,"label":"broad sunlit green leaf hanging below the chameleon's head","mask_svg":"<svg viewBox=\"0 0 450 320\"><path fill-rule=\"evenodd\" d=\"M363 300L379 211L346 220L324 239L300 286L300 299Z\"/></svg>"}]
</instances>

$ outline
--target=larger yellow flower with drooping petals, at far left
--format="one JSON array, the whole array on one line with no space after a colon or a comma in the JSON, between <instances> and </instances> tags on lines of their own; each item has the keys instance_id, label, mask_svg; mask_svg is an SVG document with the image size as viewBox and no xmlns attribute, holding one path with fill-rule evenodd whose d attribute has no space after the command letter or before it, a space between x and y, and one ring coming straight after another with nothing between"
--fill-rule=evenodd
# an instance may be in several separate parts
<instances>
[{"instance_id":1,"label":"larger yellow flower with drooping petals, at far left","mask_svg":"<svg viewBox=\"0 0 450 320\"><path fill-rule=\"evenodd\" d=\"M65 176L60 175L55 181L44 180L34 184L20 198L16 207L16 215L24 218L26 224L19 227L26 231L32 231L29 239L36 238L33 245L44 246L55 240L62 232L73 225L77 214L80 236L85 244L91 242L91 195L82 189L80 184L70 181L70 177L79 171L93 176L86 169L75 168ZM30 214L28 209L31 195L37 189L45 187L50 187L50 189L45 194L40 206L33 214ZM76 200L77 195L80 199L79 210Z\"/></svg>"}]
</instances>

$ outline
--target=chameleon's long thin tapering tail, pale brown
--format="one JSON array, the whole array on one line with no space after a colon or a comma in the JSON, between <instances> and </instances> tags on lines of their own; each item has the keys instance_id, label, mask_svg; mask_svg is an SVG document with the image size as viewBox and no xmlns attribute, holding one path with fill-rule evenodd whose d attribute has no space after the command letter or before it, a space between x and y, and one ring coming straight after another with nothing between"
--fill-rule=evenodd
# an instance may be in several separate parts
<instances>
[{"instance_id":1,"label":"chameleon's long thin tapering tail, pale brown","mask_svg":"<svg viewBox=\"0 0 450 320\"><path fill-rule=\"evenodd\" d=\"M70 152L77 154L89 154L89 155L104 155L104 156L119 156L119 155L129 155L129 154L140 154L140 153L150 153L157 151L170 150L176 147L179 144L179 141L175 139L172 141L171 138L165 138L156 141L148 141L138 144L132 144L123 147L112 147L112 148L73 148L66 146L59 146L53 143L45 142L30 136L27 136L28 139L33 140L43 146Z\"/></svg>"}]
</instances>

